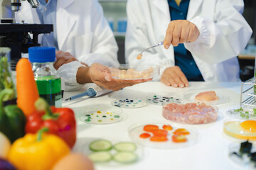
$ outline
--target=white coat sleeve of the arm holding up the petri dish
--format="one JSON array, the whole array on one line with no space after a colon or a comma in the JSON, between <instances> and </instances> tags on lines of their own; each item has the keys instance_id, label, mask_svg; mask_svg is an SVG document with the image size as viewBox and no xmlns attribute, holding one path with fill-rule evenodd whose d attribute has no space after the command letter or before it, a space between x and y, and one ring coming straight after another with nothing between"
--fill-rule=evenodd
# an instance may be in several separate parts
<instances>
[{"instance_id":1,"label":"white coat sleeve of the arm holding up the petri dish","mask_svg":"<svg viewBox=\"0 0 256 170\"><path fill-rule=\"evenodd\" d=\"M91 65L95 62L106 66L118 66L117 42L109 23L103 16L102 7L96 0L92 0L90 16L92 22L92 45L89 54L77 56L80 62Z\"/></svg>"}]
</instances>

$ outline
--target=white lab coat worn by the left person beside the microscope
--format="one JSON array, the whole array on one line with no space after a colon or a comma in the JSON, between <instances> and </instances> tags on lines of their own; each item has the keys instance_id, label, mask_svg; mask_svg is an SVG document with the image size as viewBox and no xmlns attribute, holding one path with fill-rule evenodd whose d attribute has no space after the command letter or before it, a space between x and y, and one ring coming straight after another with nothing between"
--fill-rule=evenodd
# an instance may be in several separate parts
<instances>
[{"instance_id":1,"label":"white lab coat worn by the left person beside the microscope","mask_svg":"<svg viewBox=\"0 0 256 170\"><path fill-rule=\"evenodd\" d=\"M58 49L70 52L88 65L98 62L117 66L117 42L97 0L56 1L57 30L54 31L57 31ZM21 21L40 23L36 9L26 1L22 1L21 11L16 13L16 23ZM79 62L70 62L58 69L60 77L65 79L66 90L80 88L76 73L82 66Z\"/></svg>"}]
</instances>

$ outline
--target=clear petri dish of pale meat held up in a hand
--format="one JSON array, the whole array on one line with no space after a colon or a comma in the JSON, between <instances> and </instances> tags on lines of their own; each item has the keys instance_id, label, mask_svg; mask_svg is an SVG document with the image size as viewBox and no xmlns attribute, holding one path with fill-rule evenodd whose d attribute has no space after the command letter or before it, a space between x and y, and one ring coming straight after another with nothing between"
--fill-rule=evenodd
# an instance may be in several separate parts
<instances>
[{"instance_id":1,"label":"clear petri dish of pale meat held up in a hand","mask_svg":"<svg viewBox=\"0 0 256 170\"><path fill-rule=\"evenodd\" d=\"M159 74L160 67L156 64L120 64L119 67L110 67L110 75L114 79L151 79Z\"/></svg>"}]
</instances>

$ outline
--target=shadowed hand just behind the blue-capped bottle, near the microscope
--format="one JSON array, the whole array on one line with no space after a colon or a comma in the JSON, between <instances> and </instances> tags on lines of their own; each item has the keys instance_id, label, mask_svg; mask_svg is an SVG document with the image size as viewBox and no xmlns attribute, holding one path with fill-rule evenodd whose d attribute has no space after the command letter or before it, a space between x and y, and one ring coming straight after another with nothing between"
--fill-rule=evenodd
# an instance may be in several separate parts
<instances>
[{"instance_id":1,"label":"shadowed hand just behind the blue-capped bottle, near the microscope","mask_svg":"<svg viewBox=\"0 0 256 170\"><path fill-rule=\"evenodd\" d=\"M78 61L73 55L70 55L69 52L56 51L56 61L53 63L53 67L55 69L60 68L63 64L67 64L69 62Z\"/></svg>"}]
</instances>

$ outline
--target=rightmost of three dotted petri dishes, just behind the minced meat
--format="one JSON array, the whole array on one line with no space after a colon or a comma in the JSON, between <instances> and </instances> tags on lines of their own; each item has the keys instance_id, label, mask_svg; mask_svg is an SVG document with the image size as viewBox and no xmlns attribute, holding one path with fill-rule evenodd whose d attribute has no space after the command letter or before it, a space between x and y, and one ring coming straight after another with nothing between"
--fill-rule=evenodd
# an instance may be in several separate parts
<instances>
[{"instance_id":1,"label":"rightmost of three dotted petri dishes, just behind the minced meat","mask_svg":"<svg viewBox=\"0 0 256 170\"><path fill-rule=\"evenodd\" d=\"M181 103L181 99L173 95L159 95L159 94L150 94L147 96L147 102L154 105L165 105L166 103Z\"/></svg>"}]
</instances>

